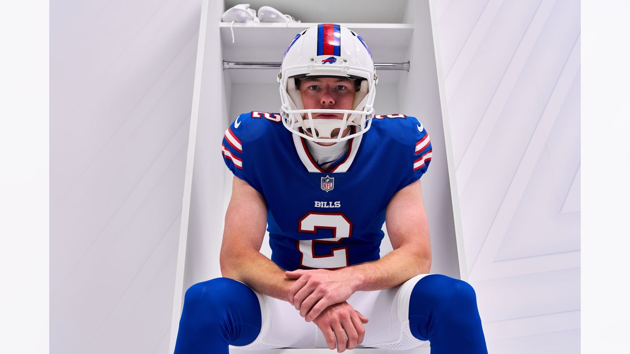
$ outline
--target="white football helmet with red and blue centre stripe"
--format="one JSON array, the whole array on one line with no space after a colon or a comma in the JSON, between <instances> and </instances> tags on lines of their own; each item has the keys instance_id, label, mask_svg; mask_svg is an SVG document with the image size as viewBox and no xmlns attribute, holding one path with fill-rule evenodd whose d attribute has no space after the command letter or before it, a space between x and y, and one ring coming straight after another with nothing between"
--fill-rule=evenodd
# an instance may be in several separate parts
<instances>
[{"instance_id":1,"label":"white football helmet with red and blue centre stripe","mask_svg":"<svg viewBox=\"0 0 630 354\"><path fill-rule=\"evenodd\" d=\"M295 79L307 76L360 80L352 110L305 110ZM282 122L290 132L315 142L339 142L357 137L372 125L377 82L372 53L363 38L340 25L312 26L295 35L282 59L278 74ZM313 113L343 113L343 119L313 119ZM354 132L341 137L350 126L355 127Z\"/></svg>"}]
</instances>

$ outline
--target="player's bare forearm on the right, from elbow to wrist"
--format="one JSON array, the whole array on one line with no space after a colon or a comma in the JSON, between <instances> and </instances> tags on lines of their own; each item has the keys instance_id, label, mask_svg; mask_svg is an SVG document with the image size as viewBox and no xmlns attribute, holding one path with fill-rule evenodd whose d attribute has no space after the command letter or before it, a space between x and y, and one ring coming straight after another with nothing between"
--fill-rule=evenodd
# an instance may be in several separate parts
<instances>
[{"instance_id":1,"label":"player's bare forearm on the right, from elbow to wrist","mask_svg":"<svg viewBox=\"0 0 630 354\"><path fill-rule=\"evenodd\" d=\"M397 287L418 274L431 269L430 253L417 251L411 245L394 249L377 261L342 268L355 280L355 291L381 290Z\"/></svg>"}]
</instances>

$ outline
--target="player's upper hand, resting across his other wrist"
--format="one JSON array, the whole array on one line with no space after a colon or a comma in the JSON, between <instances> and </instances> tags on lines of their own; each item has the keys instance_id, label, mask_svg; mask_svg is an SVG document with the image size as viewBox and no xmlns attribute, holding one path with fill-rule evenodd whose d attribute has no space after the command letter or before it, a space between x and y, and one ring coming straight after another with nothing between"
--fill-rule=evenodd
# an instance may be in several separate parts
<instances>
[{"instance_id":1,"label":"player's upper hand, resting across his other wrist","mask_svg":"<svg viewBox=\"0 0 630 354\"><path fill-rule=\"evenodd\" d=\"M297 279L289 287L289 302L310 322L324 309L348 300L355 292L355 278L347 269L342 270L294 270L285 271L291 279Z\"/></svg>"}]
</instances>

